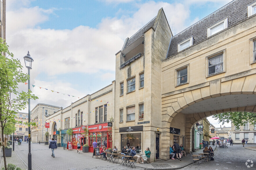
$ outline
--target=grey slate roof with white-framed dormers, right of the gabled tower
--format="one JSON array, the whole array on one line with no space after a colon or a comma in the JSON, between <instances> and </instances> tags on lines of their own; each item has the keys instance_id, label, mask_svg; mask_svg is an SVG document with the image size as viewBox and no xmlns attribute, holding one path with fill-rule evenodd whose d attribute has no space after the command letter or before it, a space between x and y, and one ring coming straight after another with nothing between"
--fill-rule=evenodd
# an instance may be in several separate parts
<instances>
[{"instance_id":1,"label":"grey slate roof with white-framed dormers, right of the gabled tower","mask_svg":"<svg viewBox=\"0 0 256 170\"><path fill-rule=\"evenodd\" d=\"M206 16L202 20L198 21L194 25L183 30L179 34L173 36L171 39L167 58L176 55L178 53L178 44L190 37L194 38L193 45L199 44L203 40L206 40L207 28L218 23L219 21L226 19L227 17L228 28L236 25L239 21L246 19L248 17L247 6L254 2L255 0L234 0L219 10Z\"/></svg>"}]
</instances>

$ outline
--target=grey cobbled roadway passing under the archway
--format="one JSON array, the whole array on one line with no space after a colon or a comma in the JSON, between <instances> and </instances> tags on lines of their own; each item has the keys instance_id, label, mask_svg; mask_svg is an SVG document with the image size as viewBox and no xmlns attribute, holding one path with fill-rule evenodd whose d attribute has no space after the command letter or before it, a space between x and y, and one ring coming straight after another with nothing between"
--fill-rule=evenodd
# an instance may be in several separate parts
<instances>
[{"instance_id":1,"label":"grey cobbled roadway passing under the archway","mask_svg":"<svg viewBox=\"0 0 256 170\"><path fill-rule=\"evenodd\" d=\"M228 148L217 148L217 151L214 153L214 161L202 162L198 165L190 165L185 169L198 169L198 170L219 170L219 169L247 169L246 161L252 160L253 163L256 163L256 151L246 149L246 147L255 146L255 145L233 145ZM251 165L248 163L247 165ZM256 169L256 164L253 165L250 169Z\"/></svg>"}]
</instances>

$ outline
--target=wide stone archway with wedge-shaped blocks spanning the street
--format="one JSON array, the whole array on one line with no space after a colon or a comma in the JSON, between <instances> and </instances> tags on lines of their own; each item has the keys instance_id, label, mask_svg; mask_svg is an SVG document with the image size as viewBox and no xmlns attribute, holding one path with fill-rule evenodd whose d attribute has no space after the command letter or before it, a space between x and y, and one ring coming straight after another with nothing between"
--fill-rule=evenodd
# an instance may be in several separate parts
<instances>
[{"instance_id":1,"label":"wide stone archway with wedge-shaped blocks spanning the street","mask_svg":"<svg viewBox=\"0 0 256 170\"><path fill-rule=\"evenodd\" d=\"M234 80L229 76L163 94L161 159L170 159L170 123L176 114L186 115L185 136L189 136L186 145L191 149L191 127L197 121L222 112L256 112L256 81L252 80L256 80L256 74Z\"/></svg>"}]
</instances>

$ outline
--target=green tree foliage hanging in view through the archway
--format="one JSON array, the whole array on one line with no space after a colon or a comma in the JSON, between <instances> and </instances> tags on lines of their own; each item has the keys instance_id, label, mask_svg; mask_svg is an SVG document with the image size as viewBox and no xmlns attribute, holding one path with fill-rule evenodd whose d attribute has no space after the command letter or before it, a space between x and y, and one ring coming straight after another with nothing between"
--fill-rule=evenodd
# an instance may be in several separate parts
<instances>
[{"instance_id":1,"label":"green tree foliage hanging in view through the archway","mask_svg":"<svg viewBox=\"0 0 256 170\"><path fill-rule=\"evenodd\" d=\"M256 123L256 113L252 112L226 112L220 113L212 116L215 120L219 119L219 123L222 125L226 122L232 122L237 129L239 126L244 126L246 123L255 124Z\"/></svg>"}]
</instances>

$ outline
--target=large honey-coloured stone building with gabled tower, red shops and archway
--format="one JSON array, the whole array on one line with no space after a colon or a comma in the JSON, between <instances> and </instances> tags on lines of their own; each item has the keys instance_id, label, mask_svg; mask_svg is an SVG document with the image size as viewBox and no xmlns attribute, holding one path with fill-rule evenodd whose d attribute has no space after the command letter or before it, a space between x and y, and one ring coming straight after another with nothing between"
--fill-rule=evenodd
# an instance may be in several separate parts
<instances>
[{"instance_id":1,"label":"large honey-coloured stone building with gabled tower, red shops and archway","mask_svg":"<svg viewBox=\"0 0 256 170\"><path fill-rule=\"evenodd\" d=\"M206 117L256 112L255 3L234 0L175 36L161 8L116 53L112 84L47 117L49 137L61 128L63 145L129 143L138 152L149 147L151 161L168 160L173 142L193 149L197 122L209 132Z\"/></svg>"}]
</instances>

